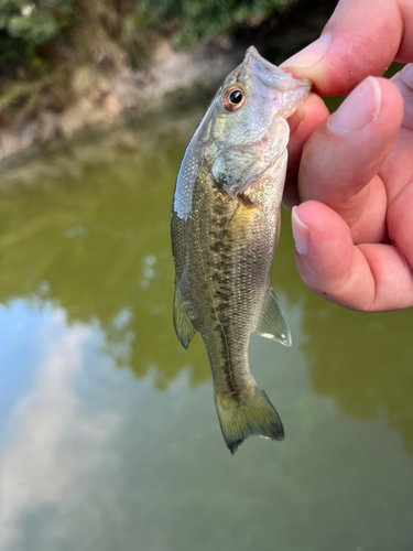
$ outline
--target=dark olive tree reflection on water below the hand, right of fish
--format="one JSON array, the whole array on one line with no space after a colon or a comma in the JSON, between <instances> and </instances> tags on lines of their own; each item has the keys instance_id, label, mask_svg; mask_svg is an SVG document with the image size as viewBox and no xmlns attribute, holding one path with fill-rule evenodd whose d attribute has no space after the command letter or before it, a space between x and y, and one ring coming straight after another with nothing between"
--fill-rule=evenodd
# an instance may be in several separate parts
<instances>
[{"instance_id":1,"label":"dark olive tree reflection on water below the hand, right of fish","mask_svg":"<svg viewBox=\"0 0 413 551\"><path fill-rule=\"evenodd\" d=\"M281 253L287 270L292 251L290 231L284 233ZM303 347L315 390L334 397L344 412L358 419L385 420L413 454L412 310L352 312L305 289L296 273L283 274L280 282L292 303L304 305Z\"/></svg>"}]
</instances>

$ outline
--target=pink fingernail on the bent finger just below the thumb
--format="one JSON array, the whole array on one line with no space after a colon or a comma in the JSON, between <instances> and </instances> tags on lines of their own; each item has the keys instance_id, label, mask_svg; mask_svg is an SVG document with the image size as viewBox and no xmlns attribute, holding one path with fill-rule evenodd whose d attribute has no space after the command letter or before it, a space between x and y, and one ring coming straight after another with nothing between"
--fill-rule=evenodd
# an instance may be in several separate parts
<instances>
[{"instance_id":1,"label":"pink fingernail on the bent finger just below the thumb","mask_svg":"<svg viewBox=\"0 0 413 551\"><path fill-rule=\"evenodd\" d=\"M352 134L367 128L381 110L381 89L369 76L345 99L328 119L328 126L338 136Z\"/></svg>"}]
</instances>

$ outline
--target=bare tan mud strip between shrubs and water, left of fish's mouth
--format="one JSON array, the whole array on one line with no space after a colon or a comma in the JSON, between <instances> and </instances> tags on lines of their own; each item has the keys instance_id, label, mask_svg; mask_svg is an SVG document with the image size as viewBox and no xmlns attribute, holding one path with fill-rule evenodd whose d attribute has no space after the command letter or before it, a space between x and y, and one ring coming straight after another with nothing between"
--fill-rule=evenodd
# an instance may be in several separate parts
<instances>
[{"instance_id":1,"label":"bare tan mud strip between shrubs and water, left of fish's mouth","mask_svg":"<svg viewBox=\"0 0 413 551\"><path fill-rule=\"evenodd\" d=\"M79 67L72 83L76 101L62 112L43 109L29 121L0 129L1 159L15 158L53 141L64 142L87 129L107 131L131 118L214 90L242 53L240 47L227 52L208 46L192 53L175 52L166 41L160 41L151 63L141 71L105 61Z\"/></svg>"}]
</instances>

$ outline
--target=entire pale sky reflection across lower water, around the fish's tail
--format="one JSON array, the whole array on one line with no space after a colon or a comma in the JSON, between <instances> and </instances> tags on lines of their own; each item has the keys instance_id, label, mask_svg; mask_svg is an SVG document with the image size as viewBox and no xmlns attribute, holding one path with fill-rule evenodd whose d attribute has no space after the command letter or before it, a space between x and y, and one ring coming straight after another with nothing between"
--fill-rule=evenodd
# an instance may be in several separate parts
<instances>
[{"instance_id":1,"label":"entire pale sky reflection across lower water, around the fish's tail","mask_svg":"<svg viewBox=\"0 0 413 551\"><path fill-rule=\"evenodd\" d=\"M191 364L160 391L155 364L140 379L116 369L97 322L51 303L2 309L20 386L1 419L0 549L404 549L412 458L383 420L344 418L312 390L303 310L281 303L295 347L254 336L251 366L286 440L249 439L235 457Z\"/></svg>"}]
</instances>

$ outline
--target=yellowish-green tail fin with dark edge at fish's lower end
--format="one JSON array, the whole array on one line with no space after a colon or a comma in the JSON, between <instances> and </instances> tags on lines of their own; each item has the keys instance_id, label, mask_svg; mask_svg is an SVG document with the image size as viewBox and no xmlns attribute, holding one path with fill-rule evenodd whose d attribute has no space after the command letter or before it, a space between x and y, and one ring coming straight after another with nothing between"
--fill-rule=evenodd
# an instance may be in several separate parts
<instances>
[{"instance_id":1,"label":"yellowish-green tail fin with dark edge at fish's lower end","mask_svg":"<svg viewBox=\"0 0 413 551\"><path fill-rule=\"evenodd\" d=\"M215 404L225 442L232 454L251 434L272 440L284 439L281 419L265 392L258 386L238 397L217 392Z\"/></svg>"}]
</instances>

